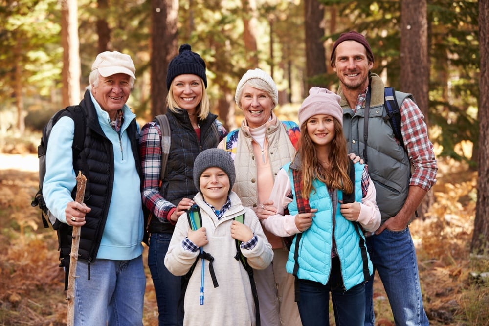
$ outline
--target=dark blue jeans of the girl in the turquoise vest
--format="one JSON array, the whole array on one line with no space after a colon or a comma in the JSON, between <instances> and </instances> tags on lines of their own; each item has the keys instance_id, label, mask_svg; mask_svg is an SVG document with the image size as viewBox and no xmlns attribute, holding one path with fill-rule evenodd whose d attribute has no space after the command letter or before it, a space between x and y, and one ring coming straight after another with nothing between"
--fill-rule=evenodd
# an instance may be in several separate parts
<instances>
[{"instance_id":1,"label":"dark blue jeans of the girl in the turquoise vest","mask_svg":"<svg viewBox=\"0 0 489 326\"><path fill-rule=\"evenodd\" d=\"M330 280L326 285L299 279L300 301L297 303L303 326L330 325L330 292L336 325L361 326L365 317L365 284L348 291L343 289L339 259L332 259Z\"/></svg>"}]
</instances>

